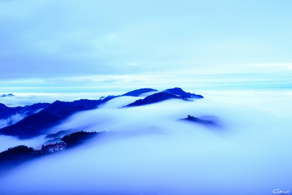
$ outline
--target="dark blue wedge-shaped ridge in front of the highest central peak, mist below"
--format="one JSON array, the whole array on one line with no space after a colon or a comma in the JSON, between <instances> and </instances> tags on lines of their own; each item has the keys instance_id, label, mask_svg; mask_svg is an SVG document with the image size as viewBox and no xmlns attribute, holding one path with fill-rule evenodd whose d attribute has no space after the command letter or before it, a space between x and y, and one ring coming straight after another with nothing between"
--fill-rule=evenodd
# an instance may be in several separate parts
<instances>
[{"instance_id":1,"label":"dark blue wedge-shaped ridge in front of the highest central peak, mist below","mask_svg":"<svg viewBox=\"0 0 292 195\"><path fill-rule=\"evenodd\" d=\"M160 102L160 101L164 101L164 100L172 99L172 98L181 99L180 97L177 97L168 92L159 92L159 93L147 96L144 99L138 99L135 102L126 105L125 107L141 106L141 105L156 103L156 102Z\"/></svg>"}]
</instances>

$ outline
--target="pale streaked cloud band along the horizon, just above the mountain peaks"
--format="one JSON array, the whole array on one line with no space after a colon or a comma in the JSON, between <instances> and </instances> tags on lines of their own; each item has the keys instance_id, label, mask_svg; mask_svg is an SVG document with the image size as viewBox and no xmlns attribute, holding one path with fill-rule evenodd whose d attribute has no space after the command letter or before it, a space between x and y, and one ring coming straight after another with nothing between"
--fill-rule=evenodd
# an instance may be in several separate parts
<instances>
[{"instance_id":1,"label":"pale streaked cloud band along the horizon, just above the mountain peaks","mask_svg":"<svg viewBox=\"0 0 292 195\"><path fill-rule=\"evenodd\" d=\"M262 65L261 65L262 66ZM136 66L133 66L135 68ZM1 79L2 93L95 93L127 92L138 88L164 90L182 87L186 90L208 89L289 89L291 70L279 67L260 67L248 64L247 70L234 72L232 66L222 71L209 69L165 70L155 73L122 75L87 75L78 77ZM285 66L286 67L286 66ZM289 67L289 66L287 66ZM228 70L228 71L227 71ZM281 72L283 71L283 72ZM216 73L217 72L217 73ZM224 73L228 72L228 73Z\"/></svg>"}]
</instances>

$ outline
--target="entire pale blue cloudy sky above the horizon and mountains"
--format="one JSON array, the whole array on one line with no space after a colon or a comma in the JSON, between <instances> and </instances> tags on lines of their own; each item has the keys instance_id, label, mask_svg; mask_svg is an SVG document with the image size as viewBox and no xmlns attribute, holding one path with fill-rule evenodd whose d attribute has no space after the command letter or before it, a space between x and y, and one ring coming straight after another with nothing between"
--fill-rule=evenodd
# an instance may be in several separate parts
<instances>
[{"instance_id":1,"label":"entire pale blue cloudy sky above the horizon and mountains","mask_svg":"<svg viewBox=\"0 0 292 195\"><path fill-rule=\"evenodd\" d=\"M291 89L290 0L0 0L0 93Z\"/></svg>"}]
</instances>

